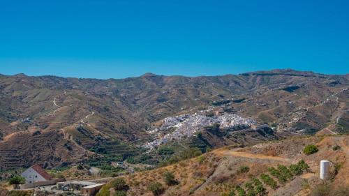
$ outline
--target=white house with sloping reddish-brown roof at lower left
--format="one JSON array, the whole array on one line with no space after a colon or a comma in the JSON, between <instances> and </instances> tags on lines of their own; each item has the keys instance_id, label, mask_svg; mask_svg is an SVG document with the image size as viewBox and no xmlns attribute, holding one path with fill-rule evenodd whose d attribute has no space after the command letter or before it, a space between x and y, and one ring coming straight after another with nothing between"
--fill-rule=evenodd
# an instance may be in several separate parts
<instances>
[{"instance_id":1,"label":"white house with sloping reddish-brown roof at lower left","mask_svg":"<svg viewBox=\"0 0 349 196\"><path fill-rule=\"evenodd\" d=\"M33 165L22 173L26 184L50 181L51 176L39 165Z\"/></svg>"}]
</instances>

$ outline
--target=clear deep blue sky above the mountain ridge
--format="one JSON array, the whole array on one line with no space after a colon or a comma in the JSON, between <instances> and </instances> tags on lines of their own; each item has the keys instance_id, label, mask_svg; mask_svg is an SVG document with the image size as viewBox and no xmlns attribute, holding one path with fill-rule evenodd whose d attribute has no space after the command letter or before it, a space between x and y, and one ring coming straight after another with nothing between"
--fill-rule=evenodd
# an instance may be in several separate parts
<instances>
[{"instance_id":1,"label":"clear deep blue sky above the mountain ridge","mask_svg":"<svg viewBox=\"0 0 349 196\"><path fill-rule=\"evenodd\" d=\"M0 1L0 73L349 73L349 1Z\"/></svg>"}]
</instances>

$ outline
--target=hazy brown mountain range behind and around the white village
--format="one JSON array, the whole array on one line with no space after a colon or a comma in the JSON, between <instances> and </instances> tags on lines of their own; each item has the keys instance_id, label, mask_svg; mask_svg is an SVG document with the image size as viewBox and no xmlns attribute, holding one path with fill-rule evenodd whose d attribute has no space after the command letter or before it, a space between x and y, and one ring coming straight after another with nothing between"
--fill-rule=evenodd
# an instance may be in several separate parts
<instances>
[{"instance_id":1,"label":"hazy brown mountain range behind and around the white village","mask_svg":"<svg viewBox=\"0 0 349 196\"><path fill-rule=\"evenodd\" d=\"M346 133L348 79L295 70L212 77L145 74L120 80L0 75L0 149L6 155L0 167L39 163L51 168L110 154L125 160L156 140L149 130L166 117L208 107L251 118L256 126L268 124L272 132L200 130L205 147L319 130ZM196 136L187 140L201 145ZM13 156L21 159L9 160Z\"/></svg>"}]
</instances>

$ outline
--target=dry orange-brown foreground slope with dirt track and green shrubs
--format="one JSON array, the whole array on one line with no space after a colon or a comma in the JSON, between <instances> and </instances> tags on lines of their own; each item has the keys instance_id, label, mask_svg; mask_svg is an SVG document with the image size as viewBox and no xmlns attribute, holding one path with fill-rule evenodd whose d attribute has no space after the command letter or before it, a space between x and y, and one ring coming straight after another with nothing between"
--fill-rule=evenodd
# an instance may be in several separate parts
<instances>
[{"instance_id":1,"label":"dry orange-brown foreground slope with dirt track and green shrubs","mask_svg":"<svg viewBox=\"0 0 349 196\"><path fill-rule=\"evenodd\" d=\"M318 146L318 152L304 154L302 151L308 144ZM334 149L334 146L339 147ZM246 148L227 146L168 167L130 174L124 179L129 186L128 195L153 195L149 186L158 182L161 195L238 195L242 188L255 195L300 196L320 190L323 184L319 178L320 160L330 160L334 165L330 179L325 182L330 191L324 194L334 195L345 188L348 191L348 158L348 136L298 137ZM296 165L303 169L294 169ZM173 183L165 181L166 173L174 175ZM100 192L108 193L114 193L113 181Z\"/></svg>"}]
</instances>

